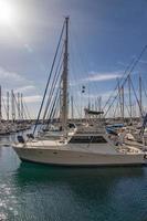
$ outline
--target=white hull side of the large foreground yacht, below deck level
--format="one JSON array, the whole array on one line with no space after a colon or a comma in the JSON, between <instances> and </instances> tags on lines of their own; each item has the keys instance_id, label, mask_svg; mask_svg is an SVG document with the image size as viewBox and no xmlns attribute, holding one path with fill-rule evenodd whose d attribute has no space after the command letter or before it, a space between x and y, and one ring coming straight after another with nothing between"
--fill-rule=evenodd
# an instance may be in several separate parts
<instances>
[{"instance_id":1,"label":"white hull side of the large foreground yacht, below deck level","mask_svg":"<svg viewBox=\"0 0 147 221\"><path fill-rule=\"evenodd\" d=\"M96 154L49 148L13 147L21 160L59 166L144 165L144 154Z\"/></svg>"}]
</instances>

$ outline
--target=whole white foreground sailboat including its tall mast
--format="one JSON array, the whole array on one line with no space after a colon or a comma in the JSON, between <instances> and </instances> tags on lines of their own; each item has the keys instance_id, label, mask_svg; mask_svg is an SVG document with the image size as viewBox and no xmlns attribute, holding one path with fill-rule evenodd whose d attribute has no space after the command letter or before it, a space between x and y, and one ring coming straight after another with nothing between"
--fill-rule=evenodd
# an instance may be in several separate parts
<instances>
[{"instance_id":1,"label":"whole white foreground sailboat including its tall mast","mask_svg":"<svg viewBox=\"0 0 147 221\"><path fill-rule=\"evenodd\" d=\"M70 136L67 129L67 61L69 61L69 18L65 18L65 41L63 60L62 92L62 136L56 139L40 135L29 140L19 137L13 149L22 161L55 166L122 166L147 164L147 152L141 147L122 144L104 128L96 125L77 129Z\"/></svg>"}]
</instances>

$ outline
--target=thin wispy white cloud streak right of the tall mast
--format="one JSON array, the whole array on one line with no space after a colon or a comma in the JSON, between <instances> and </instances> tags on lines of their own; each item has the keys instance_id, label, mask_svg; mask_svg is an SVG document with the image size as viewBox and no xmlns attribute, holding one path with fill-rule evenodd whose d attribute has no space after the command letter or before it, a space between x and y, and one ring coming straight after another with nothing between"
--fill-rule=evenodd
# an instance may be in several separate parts
<instances>
[{"instance_id":1,"label":"thin wispy white cloud streak right of the tall mast","mask_svg":"<svg viewBox=\"0 0 147 221\"><path fill-rule=\"evenodd\" d=\"M84 81L90 82L105 82L111 80L116 80L118 77L122 77L120 72L113 72L113 73L95 73L92 72L88 77L86 77Z\"/></svg>"}]
</instances>

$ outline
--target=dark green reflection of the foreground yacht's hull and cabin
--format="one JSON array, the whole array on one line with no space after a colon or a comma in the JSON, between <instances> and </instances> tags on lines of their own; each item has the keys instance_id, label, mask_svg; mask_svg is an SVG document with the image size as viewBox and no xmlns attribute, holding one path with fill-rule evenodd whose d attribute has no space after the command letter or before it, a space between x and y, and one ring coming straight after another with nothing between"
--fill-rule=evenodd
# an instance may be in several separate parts
<instances>
[{"instance_id":1,"label":"dark green reflection of the foreground yacht's hull and cabin","mask_svg":"<svg viewBox=\"0 0 147 221\"><path fill-rule=\"evenodd\" d=\"M17 170L15 180L21 187L63 187L88 201L108 198L119 182L141 179L144 171L143 167L59 168L23 162Z\"/></svg>"}]
</instances>

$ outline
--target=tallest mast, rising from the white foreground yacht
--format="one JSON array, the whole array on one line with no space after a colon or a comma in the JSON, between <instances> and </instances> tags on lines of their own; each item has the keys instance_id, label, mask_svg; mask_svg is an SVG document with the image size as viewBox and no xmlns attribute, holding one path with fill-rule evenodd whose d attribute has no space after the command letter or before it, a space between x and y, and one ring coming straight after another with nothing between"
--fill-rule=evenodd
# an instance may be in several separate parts
<instances>
[{"instance_id":1,"label":"tallest mast, rising from the white foreground yacht","mask_svg":"<svg viewBox=\"0 0 147 221\"><path fill-rule=\"evenodd\" d=\"M65 131L67 125L67 61L69 61L69 17L65 18L65 51L63 59L63 73L62 73L62 128Z\"/></svg>"}]
</instances>

